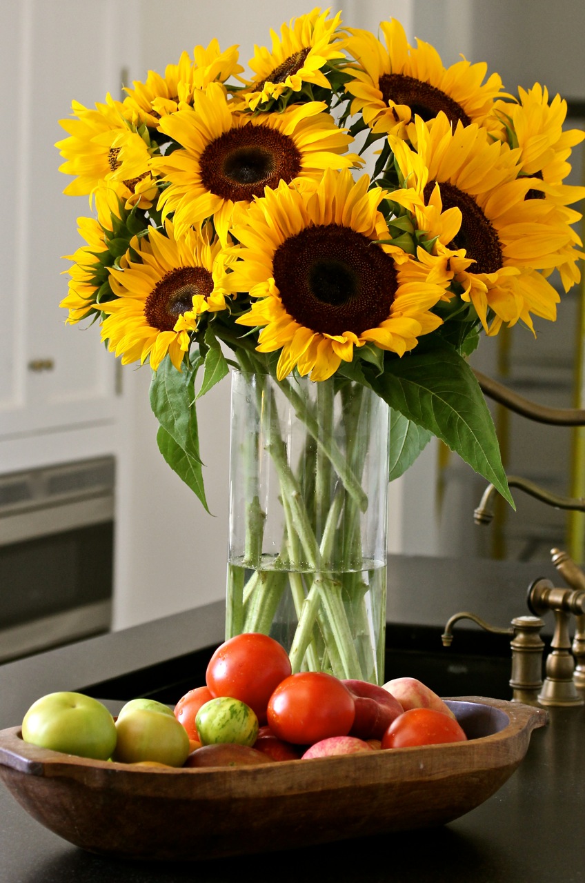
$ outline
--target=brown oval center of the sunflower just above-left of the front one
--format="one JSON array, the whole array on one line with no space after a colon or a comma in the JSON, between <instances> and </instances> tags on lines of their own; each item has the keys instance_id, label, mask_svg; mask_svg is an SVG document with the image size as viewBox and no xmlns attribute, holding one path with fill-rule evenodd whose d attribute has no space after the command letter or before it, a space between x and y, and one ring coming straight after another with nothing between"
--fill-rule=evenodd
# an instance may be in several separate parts
<instances>
[{"instance_id":1,"label":"brown oval center of the sunflower just above-left of the front one","mask_svg":"<svg viewBox=\"0 0 585 883\"><path fill-rule=\"evenodd\" d=\"M300 151L292 138L267 125L224 132L201 154L201 183L224 200L251 202L264 187L290 184L300 173Z\"/></svg>"}]
</instances>

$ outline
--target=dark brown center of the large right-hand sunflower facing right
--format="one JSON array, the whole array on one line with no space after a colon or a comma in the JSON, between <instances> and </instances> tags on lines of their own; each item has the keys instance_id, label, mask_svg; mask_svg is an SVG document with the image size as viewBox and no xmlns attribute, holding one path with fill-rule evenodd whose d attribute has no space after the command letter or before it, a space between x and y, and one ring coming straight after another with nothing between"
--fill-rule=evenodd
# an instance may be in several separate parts
<instances>
[{"instance_id":1,"label":"dark brown center of the large right-hand sunflower facing right","mask_svg":"<svg viewBox=\"0 0 585 883\"><path fill-rule=\"evenodd\" d=\"M429 181L424 188L424 200L429 201L436 181ZM446 181L439 182L443 209L460 208L462 219L460 231L452 243L453 249L465 248L468 258L473 258L471 264L472 273L496 273L502 267L502 245L499 241L498 232L492 227L482 209L477 205L473 196L449 184Z\"/></svg>"}]
</instances>

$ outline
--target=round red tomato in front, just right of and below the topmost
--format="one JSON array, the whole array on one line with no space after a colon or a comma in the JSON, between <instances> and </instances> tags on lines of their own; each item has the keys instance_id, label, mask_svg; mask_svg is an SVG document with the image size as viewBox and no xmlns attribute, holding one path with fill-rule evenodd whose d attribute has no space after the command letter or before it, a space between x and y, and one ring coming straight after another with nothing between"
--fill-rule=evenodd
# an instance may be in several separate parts
<instances>
[{"instance_id":1,"label":"round red tomato in front, just right of and below the topmost","mask_svg":"<svg viewBox=\"0 0 585 883\"><path fill-rule=\"evenodd\" d=\"M268 722L284 742L312 745L330 736L347 736L355 704L337 677L303 671L279 683L268 704Z\"/></svg>"}]
</instances>

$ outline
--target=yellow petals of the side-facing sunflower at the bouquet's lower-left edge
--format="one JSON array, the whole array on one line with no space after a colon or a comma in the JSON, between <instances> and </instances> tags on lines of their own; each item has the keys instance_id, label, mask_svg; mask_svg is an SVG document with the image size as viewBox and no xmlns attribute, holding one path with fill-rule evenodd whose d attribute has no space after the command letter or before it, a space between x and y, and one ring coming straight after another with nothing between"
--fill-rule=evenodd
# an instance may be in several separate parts
<instances>
[{"instance_id":1,"label":"yellow petals of the side-facing sunflower at the bouquet's lower-left edge","mask_svg":"<svg viewBox=\"0 0 585 883\"><path fill-rule=\"evenodd\" d=\"M104 269L108 253L105 241L105 230L112 231L112 218L119 218L119 202L115 191L110 187L101 187L95 192L95 208L97 218L81 217L77 219L78 232L86 244L74 254L65 255L66 260L73 264L64 272L71 276L69 293L59 306L69 310L65 320L68 325L75 325L90 313L101 313L98 298L107 271ZM109 291L111 297L111 291Z\"/></svg>"}]
</instances>

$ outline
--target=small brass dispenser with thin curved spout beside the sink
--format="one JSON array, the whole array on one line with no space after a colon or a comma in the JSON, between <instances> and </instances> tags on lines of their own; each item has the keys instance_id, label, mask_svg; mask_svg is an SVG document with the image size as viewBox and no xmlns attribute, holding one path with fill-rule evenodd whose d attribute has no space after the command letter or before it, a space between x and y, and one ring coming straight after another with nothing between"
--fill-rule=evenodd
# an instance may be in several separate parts
<instances>
[{"instance_id":1,"label":"small brass dispenser with thin curved spout beside the sink","mask_svg":"<svg viewBox=\"0 0 585 883\"><path fill-rule=\"evenodd\" d=\"M543 686L543 640L540 630L544 621L540 616L515 616L512 625L507 629L489 625L473 613L462 611L456 613L447 621L444 633L441 635L443 645L448 647L452 644L452 627L460 619L470 619L482 629L496 635L512 635L510 642L512 648L512 675L510 686L512 687L512 701L523 702L528 706L538 705L538 695Z\"/></svg>"}]
</instances>

